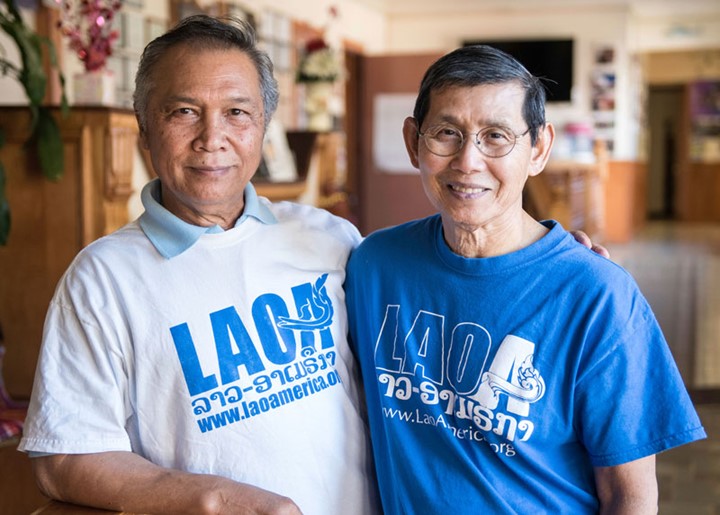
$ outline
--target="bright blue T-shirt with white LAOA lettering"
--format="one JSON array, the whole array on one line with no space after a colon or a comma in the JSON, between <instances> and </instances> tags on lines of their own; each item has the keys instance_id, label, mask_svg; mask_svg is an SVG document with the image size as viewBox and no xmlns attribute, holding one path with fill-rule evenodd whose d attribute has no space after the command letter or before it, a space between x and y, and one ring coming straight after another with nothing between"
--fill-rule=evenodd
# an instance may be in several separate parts
<instances>
[{"instance_id":1,"label":"bright blue T-shirt with white LAOA lettering","mask_svg":"<svg viewBox=\"0 0 720 515\"><path fill-rule=\"evenodd\" d=\"M435 215L353 252L385 513L595 513L593 467L705 436L635 281L546 225L527 248L468 259Z\"/></svg>"}]
</instances>

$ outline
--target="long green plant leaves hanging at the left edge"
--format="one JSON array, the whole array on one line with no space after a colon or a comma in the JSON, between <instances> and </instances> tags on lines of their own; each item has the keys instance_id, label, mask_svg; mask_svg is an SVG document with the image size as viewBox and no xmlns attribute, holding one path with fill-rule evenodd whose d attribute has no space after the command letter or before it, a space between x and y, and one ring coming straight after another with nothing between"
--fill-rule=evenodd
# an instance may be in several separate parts
<instances>
[{"instance_id":1,"label":"long green plant leaves hanging at the left edge","mask_svg":"<svg viewBox=\"0 0 720 515\"><path fill-rule=\"evenodd\" d=\"M3 57L5 52L0 47L0 73L17 79L27 95L31 114L28 148L38 157L45 177L57 181L63 173L62 138L51 110L42 105L48 80L42 62L43 48L48 51L51 66L57 69L55 47L49 39L41 37L28 27L13 0L2 0L0 3L0 30L17 45L20 53L20 64L16 65ZM62 74L60 84L63 90L61 106L63 114L66 114L68 104ZM0 130L0 147L3 144L4 136ZM5 182L5 169L0 163L0 245L7 243L10 232L10 206L5 196Z\"/></svg>"}]
</instances>

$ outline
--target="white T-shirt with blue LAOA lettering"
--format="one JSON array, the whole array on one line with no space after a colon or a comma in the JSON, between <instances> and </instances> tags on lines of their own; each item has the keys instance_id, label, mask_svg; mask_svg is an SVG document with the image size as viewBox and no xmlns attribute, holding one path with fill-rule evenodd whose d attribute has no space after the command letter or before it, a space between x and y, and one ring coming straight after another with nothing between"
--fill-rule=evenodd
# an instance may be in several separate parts
<instances>
[{"instance_id":1,"label":"white T-shirt with blue LAOA lettering","mask_svg":"<svg viewBox=\"0 0 720 515\"><path fill-rule=\"evenodd\" d=\"M309 206L162 257L137 221L83 250L49 308L20 450L132 451L376 511L342 284L360 235Z\"/></svg>"}]
</instances>

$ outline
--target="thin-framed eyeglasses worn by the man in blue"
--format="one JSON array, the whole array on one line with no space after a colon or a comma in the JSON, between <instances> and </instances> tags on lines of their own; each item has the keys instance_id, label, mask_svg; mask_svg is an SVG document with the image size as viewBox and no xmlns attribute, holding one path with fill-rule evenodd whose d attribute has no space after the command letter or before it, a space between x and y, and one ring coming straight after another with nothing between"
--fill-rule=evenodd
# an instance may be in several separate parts
<instances>
[{"instance_id":1,"label":"thin-framed eyeglasses worn by the man in blue","mask_svg":"<svg viewBox=\"0 0 720 515\"><path fill-rule=\"evenodd\" d=\"M507 127L485 127L475 134L470 134L472 141L480 152L488 157L503 157L512 152L518 138L522 138L530 128L522 134L515 134ZM425 140L428 150L441 157L454 156L463 148L465 135L457 127L449 124L433 125L425 132L418 131Z\"/></svg>"}]
</instances>

